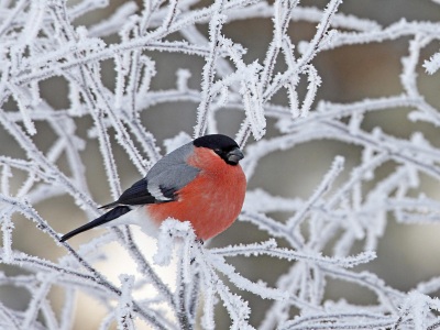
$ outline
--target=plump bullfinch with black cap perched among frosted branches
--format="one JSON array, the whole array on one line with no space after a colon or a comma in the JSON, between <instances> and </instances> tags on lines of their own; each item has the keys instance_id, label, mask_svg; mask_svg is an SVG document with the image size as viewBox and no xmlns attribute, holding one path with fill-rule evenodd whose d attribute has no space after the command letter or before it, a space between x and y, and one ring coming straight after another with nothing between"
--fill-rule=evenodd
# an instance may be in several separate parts
<instances>
[{"instance_id":1,"label":"plump bullfinch with black cap perched among frosted branches","mask_svg":"<svg viewBox=\"0 0 440 330\"><path fill-rule=\"evenodd\" d=\"M227 135L197 138L163 156L118 200L102 206L106 213L59 241L99 226L133 223L154 235L168 218L189 221L197 239L207 241L228 229L242 209L246 178L239 163L243 157Z\"/></svg>"}]
</instances>

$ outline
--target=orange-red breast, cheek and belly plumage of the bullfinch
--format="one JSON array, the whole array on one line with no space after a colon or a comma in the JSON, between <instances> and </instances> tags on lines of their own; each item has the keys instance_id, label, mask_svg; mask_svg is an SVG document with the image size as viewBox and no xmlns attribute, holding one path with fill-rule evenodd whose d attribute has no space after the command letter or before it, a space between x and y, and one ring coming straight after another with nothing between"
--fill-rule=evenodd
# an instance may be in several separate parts
<instances>
[{"instance_id":1,"label":"orange-red breast, cheek and belly plumage of the bullfinch","mask_svg":"<svg viewBox=\"0 0 440 330\"><path fill-rule=\"evenodd\" d=\"M190 221L196 235L208 240L224 231L239 216L246 179L240 164L229 165L207 147L195 147L188 164L201 170L177 191L178 200L148 205L146 209L157 224L168 217Z\"/></svg>"}]
</instances>

